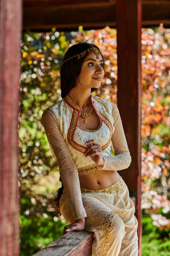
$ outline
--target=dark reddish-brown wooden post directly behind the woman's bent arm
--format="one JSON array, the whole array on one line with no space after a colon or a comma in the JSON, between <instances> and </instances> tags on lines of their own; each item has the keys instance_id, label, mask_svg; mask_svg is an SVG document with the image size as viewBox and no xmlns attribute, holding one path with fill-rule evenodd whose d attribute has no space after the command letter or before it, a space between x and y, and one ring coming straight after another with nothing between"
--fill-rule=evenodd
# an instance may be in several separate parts
<instances>
[{"instance_id":1,"label":"dark reddish-brown wooden post directly behind the woman's bent arm","mask_svg":"<svg viewBox=\"0 0 170 256\"><path fill-rule=\"evenodd\" d=\"M141 29L142 0L116 1L118 108L132 157L128 169L120 171L131 196L136 197L139 256L142 244L141 210Z\"/></svg>"}]
</instances>

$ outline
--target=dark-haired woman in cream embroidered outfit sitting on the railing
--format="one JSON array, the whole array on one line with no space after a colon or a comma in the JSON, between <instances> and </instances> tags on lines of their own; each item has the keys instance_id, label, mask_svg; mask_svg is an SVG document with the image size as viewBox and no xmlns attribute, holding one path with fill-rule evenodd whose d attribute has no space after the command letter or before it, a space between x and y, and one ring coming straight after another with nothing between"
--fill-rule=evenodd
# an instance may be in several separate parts
<instances>
[{"instance_id":1,"label":"dark-haired woman in cream embroidered outfit sitting on the railing","mask_svg":"<svg viewBox=\"0 0 170 256\"><path fill-rule=\"evenodd\" d=\"M94 231L92 256L137 256L135 207L116 172L131 163L121 117L116 105L91 94L101 85L103 67L96 45L71 46L60 70L62 100L42 114L62 182L54 201L68 222L63 234Z\"/></svg>"}]
</instances>

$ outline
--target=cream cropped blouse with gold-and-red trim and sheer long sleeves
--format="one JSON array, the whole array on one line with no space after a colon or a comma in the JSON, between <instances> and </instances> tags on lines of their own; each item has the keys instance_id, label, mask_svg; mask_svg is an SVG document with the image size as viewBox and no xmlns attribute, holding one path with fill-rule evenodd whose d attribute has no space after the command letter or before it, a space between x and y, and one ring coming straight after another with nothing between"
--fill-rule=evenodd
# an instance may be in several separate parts
<instances>
[{"instance_id":1,"label":"cream cropped blouse with gold-and-red trim and sheer long sleeves","mask_svg":"<svg viewBox=\"0 0 170 256\"><path fill-rule=\"evenodd\" d=\"M81 128L78 124L81 107L67 94L42 114L42 124L59 174L70 201L74 219L87 217L82 204L79 175L99 170L119 171L127 169L131 156L119 114L115 104L91 94L91 102L100 119L96 130ZM91 157L83 156L88 140L101 145L104 166L97 165ZM111 156L111 143L115 156Z\"/></svg>"}]
</instances>

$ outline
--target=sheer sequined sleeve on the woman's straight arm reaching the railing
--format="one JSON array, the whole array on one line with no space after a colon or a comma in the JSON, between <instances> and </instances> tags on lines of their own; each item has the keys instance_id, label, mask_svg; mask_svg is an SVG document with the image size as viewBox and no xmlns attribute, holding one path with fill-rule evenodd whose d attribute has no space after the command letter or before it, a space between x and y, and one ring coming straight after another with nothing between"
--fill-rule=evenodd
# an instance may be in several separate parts
<instances>
[{"instance_id":1,"label":"sheer sequined sleeve on the woman's straight arm reaching the railing","mask_svg":"<svg viewBox=\"0 0 170 256\"><path fill-rule=\"evenodd\" d=\"M74 219L78 220L85 218L87 215L82 204L77 168L71 158L70 151L59 129L53 111L46 109L42 113L42 124L45 129L51 152L54 159L57 160L61 181L71 204Z\"/></svg>"}]
</instances>

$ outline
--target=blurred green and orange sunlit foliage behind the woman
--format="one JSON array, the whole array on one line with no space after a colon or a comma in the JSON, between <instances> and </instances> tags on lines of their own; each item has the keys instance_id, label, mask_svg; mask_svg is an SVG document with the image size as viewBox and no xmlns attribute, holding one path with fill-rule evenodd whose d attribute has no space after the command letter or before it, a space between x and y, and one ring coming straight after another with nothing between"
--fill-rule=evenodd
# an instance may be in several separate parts
<instances>
[{"instance_id":1,"label":"blurred green and orange sunlit foliage behind the woman","mask_svg":"<svg viewBox=\"0 0 170 256\"><path fill-rule=\"evenodd\" d=\"M105 76L94 95L117 105L116 29L23 33L20 88L20 249L31 256L62 236L67 225L51 201L60 187L41 122L61 98L60 67L66 50L96 44ZM142 29L142 255L170 256L170 29ZM113 152L112 152L113 154Z\"/></svg>"}]
</instances>

